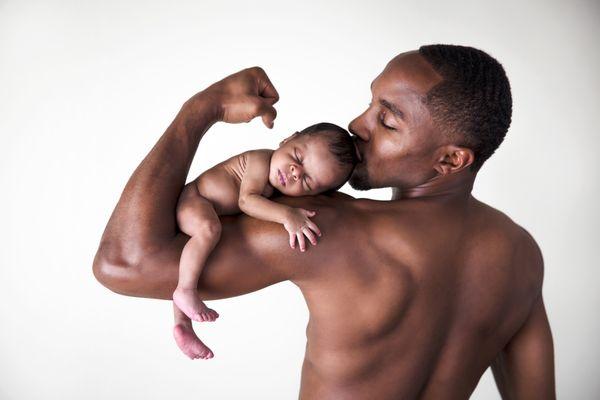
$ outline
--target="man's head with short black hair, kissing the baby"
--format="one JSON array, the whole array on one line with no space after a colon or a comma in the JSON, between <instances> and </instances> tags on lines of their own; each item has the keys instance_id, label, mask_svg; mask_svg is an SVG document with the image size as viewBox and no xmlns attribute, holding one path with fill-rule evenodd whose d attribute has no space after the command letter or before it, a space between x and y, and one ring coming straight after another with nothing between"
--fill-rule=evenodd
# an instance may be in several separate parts
<instances>
[{"instance_id":1,"label":"man's head with short black hair, kissing the baby","mask_svg":"<svg viewBox=\"0 0 600 400\"><path fill-rule=\"evenodd\" d=\"M350 184L359 190L474 174L510 125L504 69L471 47L431 45L400 54L371 91L371 104L349 126L362 158Z\"/></svg>"}]
</instances>

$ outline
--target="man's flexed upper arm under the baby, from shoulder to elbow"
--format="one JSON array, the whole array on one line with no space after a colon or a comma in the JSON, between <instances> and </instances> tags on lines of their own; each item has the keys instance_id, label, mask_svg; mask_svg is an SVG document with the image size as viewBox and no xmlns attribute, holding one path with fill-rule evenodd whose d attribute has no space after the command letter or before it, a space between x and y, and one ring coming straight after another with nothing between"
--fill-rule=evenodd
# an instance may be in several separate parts
<instances>
[{"instance_id":1,"label":"man's flexed upper arm under the baby, from shoulder to elbow","mask_svg":"<svg viewBox=\"0 0 600 400\"><path fill-rule=\"evenodd\" d=\"M207 259L198 283L204 299L234 297L284 280L302 280L309 276L313 265L327 258L325 255L336 253L336 231L340 228L335 222L340 220L340 211L335 199L282 197L275 201L317 211L314 219L323 232L317 246L301 253L289 247L288 235L280 224L244 214L222 217L221 239ZM158 251L147 254L135 271L127 272L124 281L115 285L118 287L115 291L131 296L172 298L181 250L188 239L180 233Z\"/></svg>"}]
</instances>

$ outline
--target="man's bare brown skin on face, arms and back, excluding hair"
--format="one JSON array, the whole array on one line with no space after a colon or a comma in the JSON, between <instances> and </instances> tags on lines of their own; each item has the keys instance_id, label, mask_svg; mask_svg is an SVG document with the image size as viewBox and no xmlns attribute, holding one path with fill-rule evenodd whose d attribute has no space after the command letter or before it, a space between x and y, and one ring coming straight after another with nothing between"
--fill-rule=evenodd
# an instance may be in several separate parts
<instances>
[{"instance_id":1,"label":"man's bare brown skin on face, arms and back, excluding hair","mask_svg":"<svg viewBox=\"0 0 600 400\"><path fill-rule=\"evenodd\" d=\"M435 126L422 101L441 80L418 52L400 54L350 124L362 157L351 182L392 187L391 201L277 198L317 211L323 237L304 253L278 224L222 218L198 291L210 300L284 280L300 288L310 312L301 399L465 399L490 365L503 398L555 397L542 255L471 195L473 151ZM251 68L184 104L108 222L94 261L102 284L171 299L188 239L175 206L200 139L217 121L262 116L272 126L277 100Z\"/></svg>"}]
</instances>

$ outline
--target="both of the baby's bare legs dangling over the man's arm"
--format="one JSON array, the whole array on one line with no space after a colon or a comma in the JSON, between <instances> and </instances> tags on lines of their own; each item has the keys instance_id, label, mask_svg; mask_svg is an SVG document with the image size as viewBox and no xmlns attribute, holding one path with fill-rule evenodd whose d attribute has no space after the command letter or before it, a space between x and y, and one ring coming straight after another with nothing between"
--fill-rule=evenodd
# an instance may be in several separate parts
<instances>
[{"instance_id":1,"label":"both of the baby's bare legs dangling over the man's arm","mask_svg":"<svg viewBox=\"0 0 600 400\"><path fill-rule=\"evenodd\" d=\"M190 319L214 321L219 314L198 297L198 279L210 252L221 237L221 223L212 203L201 196L196 182L187 184L177 205L177 224L190 236L181 253L179 282L173 293L175 328L181 350L190 358L212 358L212 351L198 339Z\"/></svg>"}]
</instances>

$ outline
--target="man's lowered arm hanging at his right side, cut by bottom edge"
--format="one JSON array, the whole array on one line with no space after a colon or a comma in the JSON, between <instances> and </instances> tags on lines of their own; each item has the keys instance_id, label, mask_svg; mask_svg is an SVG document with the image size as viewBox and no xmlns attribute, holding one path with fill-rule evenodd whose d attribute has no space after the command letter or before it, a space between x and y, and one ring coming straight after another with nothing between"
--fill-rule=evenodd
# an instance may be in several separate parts
<instances>
[{"instance_id":1,"label":"man's lowered arm hanging at his right side, cut by bottom edge","mask_svg":"<svg viewBox=\"0 0 600 400\"><path fill-rule=\"evenodd\" d=\"M540 295L521 329L492 363L503 399L555 399L554 346Z\"/></svg>"}]
</instances>

